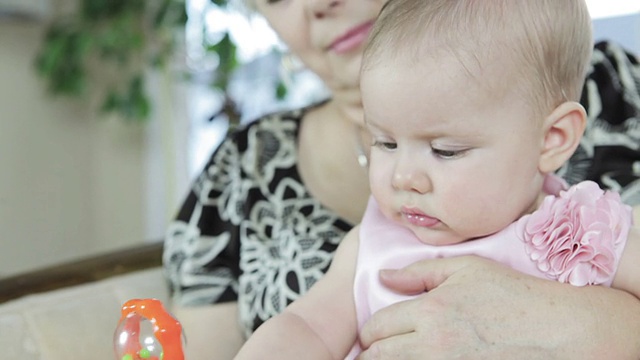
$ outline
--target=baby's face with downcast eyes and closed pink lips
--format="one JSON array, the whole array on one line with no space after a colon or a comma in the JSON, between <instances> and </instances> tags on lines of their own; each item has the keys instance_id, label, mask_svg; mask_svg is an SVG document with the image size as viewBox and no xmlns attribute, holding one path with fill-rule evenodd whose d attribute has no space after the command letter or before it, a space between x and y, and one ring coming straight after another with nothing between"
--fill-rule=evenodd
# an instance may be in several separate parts
<instances>
[{"instance_id":1,"label":"baby's face with downcast eyes and closed pink lips","mask_svg":"<svg viewBox=\"0 0 640 360\"><path fill-rule=\"evenodd\" d=\"M504 70L496 62L471 77L450 57L382 60L362 73L371 191L425 243L492 234L537 205L542 119ZM487 86L496 79L506 84Z\"/></svg>"}]
</instances>

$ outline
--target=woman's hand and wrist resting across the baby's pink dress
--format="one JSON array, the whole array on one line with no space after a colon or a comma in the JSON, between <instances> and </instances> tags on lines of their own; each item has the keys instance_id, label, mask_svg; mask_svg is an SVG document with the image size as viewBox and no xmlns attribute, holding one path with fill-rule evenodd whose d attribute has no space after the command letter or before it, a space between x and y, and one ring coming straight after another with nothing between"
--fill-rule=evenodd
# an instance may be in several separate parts
<instances>
[{"instance_id":1,"label":"woman's hand and wrist resting across the baby's pink dress","mask_svg":"<svg viewBox=\"0 0 640 360\"><path fill-rule=\"evenodd\" d=\"M359 359L639 359L640 301L473 257L383 271L406 294L367 322Z\"/></svg>"}]
</instances>

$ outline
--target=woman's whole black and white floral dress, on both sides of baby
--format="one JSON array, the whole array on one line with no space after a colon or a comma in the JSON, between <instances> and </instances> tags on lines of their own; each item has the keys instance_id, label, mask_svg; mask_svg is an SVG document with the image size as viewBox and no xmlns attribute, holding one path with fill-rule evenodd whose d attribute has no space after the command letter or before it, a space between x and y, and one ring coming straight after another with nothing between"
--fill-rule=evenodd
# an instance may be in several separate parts
<instances>
[{"instance_id":1,"label":"woman's whole black and white floral dress, on both sides of baby","mask_svg":"<svg viewBox=\"0 0 640 360\"><path fill-rule=\"evenodd\" d=\"M611 174L640 172L640 65L606 42L596 45L592 65L582 96L585 137L559 174L619 190L635 205L635 177ZM237 301L249 335L327 270L353 224L320 204L297 171L306 111L268 115L229 134L195 180L165 239L176 304Z\"/></svg>"}]
</instances>

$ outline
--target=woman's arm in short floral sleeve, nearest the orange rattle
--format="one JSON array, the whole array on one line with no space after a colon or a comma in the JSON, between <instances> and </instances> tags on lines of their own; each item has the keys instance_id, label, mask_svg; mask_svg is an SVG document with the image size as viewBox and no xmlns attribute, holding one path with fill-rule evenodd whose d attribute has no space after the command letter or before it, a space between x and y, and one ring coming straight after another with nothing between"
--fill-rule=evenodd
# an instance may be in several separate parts
<instances>
[{"instance_id":1,"label":"woman's arm in short floral sleeve, nearest the orange rattle","mask_svg":"<svg viewBox=\"0 0 640 360\"><path fill-rule=\"evenodd\" d=\"M163 268L172 312L182 324L189 360L232 359L244 343L238 316L238 224L221 214L224 190L234 190L225 174L238 171L240 161L229 135L195 178L164 241Z\"/></svg>"}]
</instances>

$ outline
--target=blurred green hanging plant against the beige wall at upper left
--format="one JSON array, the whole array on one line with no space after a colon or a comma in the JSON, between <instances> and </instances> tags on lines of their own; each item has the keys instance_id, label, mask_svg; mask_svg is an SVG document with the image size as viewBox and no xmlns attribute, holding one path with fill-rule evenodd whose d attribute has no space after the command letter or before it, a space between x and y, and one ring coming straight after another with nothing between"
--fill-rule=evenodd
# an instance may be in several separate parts
<instances>
[{"instance_id":1,"label":"blurred green hanging plant against the beige wall at upper left","mask_svg":"<svg viewBox=\"0 0 640 360\"><path fill-rule=\"evenodd\" d=\"M146 120L145 70L171 59L187 20L184 0L78 0L75 9L49 25L37 72L54 95L75 97L102 76L100 110Z\"/></svg>"}]
</instances>

